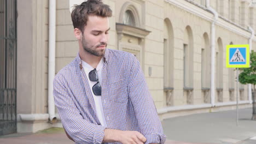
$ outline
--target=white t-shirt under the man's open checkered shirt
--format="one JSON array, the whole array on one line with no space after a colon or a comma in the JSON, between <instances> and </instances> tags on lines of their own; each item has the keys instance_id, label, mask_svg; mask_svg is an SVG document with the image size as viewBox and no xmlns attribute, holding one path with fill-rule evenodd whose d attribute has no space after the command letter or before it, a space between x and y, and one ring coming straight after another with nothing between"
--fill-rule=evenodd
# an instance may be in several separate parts
<instances>
[{"instance_id":1,"label":"white t-shirt under the man's open checkered shirt","mask_svg":"<svg viewBox=\"0 0 256 144\"><path fill-rule=\"evenodd\" d=\"M102 82L101 74L102 74L103 64L104 64L104 62L103 62L103 58L102 58L96 68L97 74L98 74L98 80L100 81L100 83ZM82 65L83 65L86 77L88 79L89 85L91 87L92 97L94 97L94 103L95 103L95 107L96 107L96 114L97 114L98 120L100 121L102 126L107 127L107 123L106 123L106 119L105 119L105 115L104 115L104 111L103 111L103 106L102 106L101 95L95 95L94 92L92 92L92 87L97 83L97 81L90 81L90 79L89 79L89 73L91 70L94 70L94 68L91 67L91 65L89 65L88 63L86 63L84 61L82 61Z\"/></svg>"}]
</instances>

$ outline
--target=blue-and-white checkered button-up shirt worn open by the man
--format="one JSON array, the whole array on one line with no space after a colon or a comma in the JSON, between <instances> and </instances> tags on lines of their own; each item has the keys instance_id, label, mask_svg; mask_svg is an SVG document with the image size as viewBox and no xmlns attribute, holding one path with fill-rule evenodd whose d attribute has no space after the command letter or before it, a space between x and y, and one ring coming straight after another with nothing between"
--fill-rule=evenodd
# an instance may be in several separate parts
<instances>
[{"instance_id":1,"label":"blue-and-white checkered button-up shirt worn open by the man","mask_svg":"<svg viewBox=\"0 0 256 144\"><path fill-rule=\"evenodd\" d=\"M135 56L106 49L101 86L107 127L97 118L79 55L55 76L55 105L63 127L76 143L102 143L106 128L139 131L146 143L165 142L154 101Z\"/></svg>"}]
</instances>

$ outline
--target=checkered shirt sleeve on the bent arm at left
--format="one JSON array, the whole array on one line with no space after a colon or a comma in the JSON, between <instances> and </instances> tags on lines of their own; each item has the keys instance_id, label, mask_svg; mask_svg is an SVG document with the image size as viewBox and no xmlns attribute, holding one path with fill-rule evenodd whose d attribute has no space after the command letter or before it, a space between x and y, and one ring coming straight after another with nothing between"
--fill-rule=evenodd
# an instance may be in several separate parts
<instances>
[{"instance_id":1,"label":"checkered shirt sleeve on the bent arm at left","mask_svg":"<svg viewBox=\"0 0 256 144\"><path fill-rule=\"evenodd\" d=\"M83 119L74 104L70 90L63 83L65 83L65 79L57 74L54 79L53 94L62 125L68 135L76 143L102 143L106 128Z\"/></svg>"}]
</instances>

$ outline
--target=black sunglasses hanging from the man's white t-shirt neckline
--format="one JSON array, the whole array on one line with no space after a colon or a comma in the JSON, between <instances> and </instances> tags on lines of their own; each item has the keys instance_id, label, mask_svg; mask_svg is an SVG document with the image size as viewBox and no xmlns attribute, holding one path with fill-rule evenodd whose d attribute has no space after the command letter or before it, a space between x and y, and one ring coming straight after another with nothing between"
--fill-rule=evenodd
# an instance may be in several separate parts
<instances>
[{"instance_id":1,"label":"black sunglasses hanging from the man's white t-shirt neckline","mask_svg":"<svg viewBox=\"0 0 256 144\"><path fill-rule=\"evenodd\" d=\"M89 79L90 81L97 81L97 83L92 86L92 92L94 92L95 95L101 95L101 84L98 81L98 74L96 69L90 71Z\"/></svg>"}]
</instances>

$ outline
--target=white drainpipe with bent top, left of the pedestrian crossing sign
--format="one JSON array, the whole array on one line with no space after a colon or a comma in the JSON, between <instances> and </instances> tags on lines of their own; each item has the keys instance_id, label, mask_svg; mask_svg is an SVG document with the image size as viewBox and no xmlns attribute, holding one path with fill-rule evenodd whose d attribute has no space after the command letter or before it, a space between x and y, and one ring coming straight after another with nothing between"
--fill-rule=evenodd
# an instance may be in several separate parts
<instances>
[{"instance_id":1,"label":"white drainpipe with bent top, left of the pedestrian crossing sign","mask_svg":"<svg viewBox=\"0 0 256 144\"><path fill-rule=\"evenodd\" d=\"M215 106L215 23L218 19L218 13L210 6L210 0L206 0L206 8L214 14L211 27L211 104Z\"/></svg>"}]
</instances>

